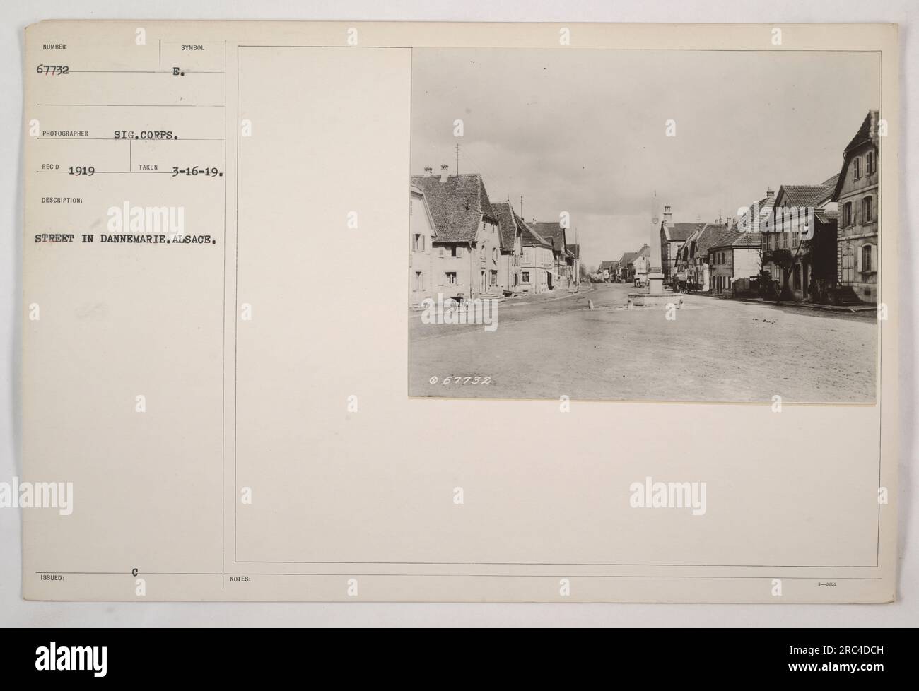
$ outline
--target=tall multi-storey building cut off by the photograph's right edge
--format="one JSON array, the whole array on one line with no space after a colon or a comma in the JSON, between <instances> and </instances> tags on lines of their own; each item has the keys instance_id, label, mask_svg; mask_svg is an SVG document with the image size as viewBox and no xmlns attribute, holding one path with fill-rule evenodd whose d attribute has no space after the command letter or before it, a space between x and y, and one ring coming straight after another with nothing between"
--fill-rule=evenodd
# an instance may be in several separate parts
<instances>
[{"instance_id":1,"label":"tall multi-storey building cut off by the photograph's right edge","mask_svg":"<svg viewBox=\"0 0 919 691\"><path fill-rule=\"evenodd\" d=\"M833 190L837 202L835 301L878 301L878 111L871 110L845 146Z\"/></svg>"}]
</instances>

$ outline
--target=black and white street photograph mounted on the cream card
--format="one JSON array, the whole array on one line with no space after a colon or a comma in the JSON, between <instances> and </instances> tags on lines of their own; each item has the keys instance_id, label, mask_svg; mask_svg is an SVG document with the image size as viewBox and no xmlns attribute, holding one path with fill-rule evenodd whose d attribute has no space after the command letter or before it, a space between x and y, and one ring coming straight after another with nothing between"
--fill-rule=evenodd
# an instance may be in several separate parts
<instances>
[{"instance_id":1,"label":"black and white street photograph mounted on the cream card","mask_svg":"<svg viewBox=\"0 0 919 691\"><path fill-rule=\"evenodd\" d=\"M872 403L879 53L417 49L409 393Z\"/></svg>"}]
</instances>

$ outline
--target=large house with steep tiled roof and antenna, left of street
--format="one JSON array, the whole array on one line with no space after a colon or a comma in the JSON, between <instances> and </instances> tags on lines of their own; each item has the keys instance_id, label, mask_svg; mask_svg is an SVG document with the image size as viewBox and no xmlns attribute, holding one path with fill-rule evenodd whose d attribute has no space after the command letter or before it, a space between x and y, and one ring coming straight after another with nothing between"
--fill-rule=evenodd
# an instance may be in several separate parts
<instances>
[{"instance_id":1,"label":"large house with steep tiled roof and antenna, left of street","mask_svg":"<svg viewBox=\"0 0 919 691\"><path fill-rule=\"evenodd\" d=\"M482 176L451 176L440 166L440 176L425 168L412 176L422 190L437 229L434 246L435 292L458 299L500 295L501 233Z\"/></svg>"}]
</instances>

